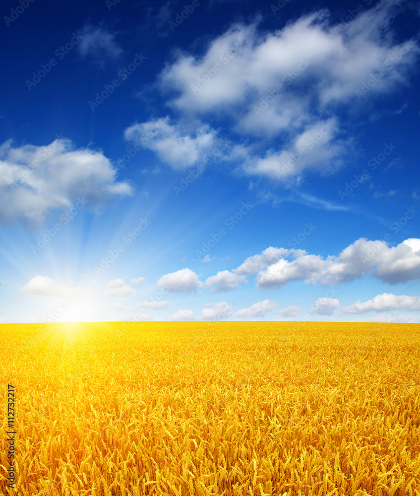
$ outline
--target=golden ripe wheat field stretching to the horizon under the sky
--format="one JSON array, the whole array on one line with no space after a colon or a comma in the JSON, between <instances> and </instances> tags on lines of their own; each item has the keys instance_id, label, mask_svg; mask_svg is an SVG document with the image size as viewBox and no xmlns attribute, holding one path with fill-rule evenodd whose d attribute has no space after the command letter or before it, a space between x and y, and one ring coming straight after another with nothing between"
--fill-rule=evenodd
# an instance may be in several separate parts
<instances>
[{"instance_id":1,"label":"golden ripe wheat field stretching to the horizon under the sky","mask_svg":"<svg viewBox=\"0 0 420 496\"><path fill-rule=\"evenodd\" d=\"M3 324L19 496L420 495L420 326Z\"/></svg>"}]
</instances>

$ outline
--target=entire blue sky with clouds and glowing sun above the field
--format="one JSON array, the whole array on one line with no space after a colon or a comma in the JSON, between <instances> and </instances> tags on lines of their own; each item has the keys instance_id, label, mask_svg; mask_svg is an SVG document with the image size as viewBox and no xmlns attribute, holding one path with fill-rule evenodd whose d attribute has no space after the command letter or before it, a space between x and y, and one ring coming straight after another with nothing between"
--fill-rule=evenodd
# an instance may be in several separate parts
<instances>
[{"instance_id":1,"label":"entire blue sky with clouds and glowing sun above the field","mask_svg":"<svg viewBox=\"0 0 420 496\"><path fill-rule=\"evenodd\" d=\"M410 1L2 4L0 321L420 321Z\"/></svg>"}]
</instances>

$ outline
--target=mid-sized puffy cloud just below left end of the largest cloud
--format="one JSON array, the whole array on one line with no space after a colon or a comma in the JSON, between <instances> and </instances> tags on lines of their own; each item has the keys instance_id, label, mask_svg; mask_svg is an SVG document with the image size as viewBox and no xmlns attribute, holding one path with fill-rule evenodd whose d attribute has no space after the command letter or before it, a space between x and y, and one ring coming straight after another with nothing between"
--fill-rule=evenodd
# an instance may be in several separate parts
<instances>
[{"instance_id":1,"label":"mid-sized puffy cloud just below left end of the largest cloud","mask_svg":"<svg viewBox=\"0 0 420 496\"><path fill-rule=\"evenodd\" d=\"M169 117L133 124L124 131L127 140L153 150L160 160L176 170L204 164L204 157L215 146L216 132L208 125L184 128L171 124Z\"/></svg>"}]
</instances>

